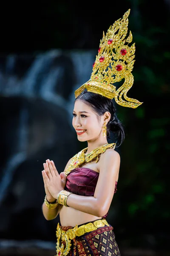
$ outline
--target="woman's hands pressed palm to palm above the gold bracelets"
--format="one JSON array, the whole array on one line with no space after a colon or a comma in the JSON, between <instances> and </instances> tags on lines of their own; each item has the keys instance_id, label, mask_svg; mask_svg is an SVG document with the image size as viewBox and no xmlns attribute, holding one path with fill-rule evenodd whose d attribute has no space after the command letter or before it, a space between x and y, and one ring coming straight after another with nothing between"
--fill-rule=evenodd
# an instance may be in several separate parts
<instances>
[{"instance_id":1,"label":"woman's hands pressed palm to palm above the gold bracelets","mask_svg":"<svg viewBox=\"0 0 170 256\"><path fill-rule=\"evenodd\" d=\"M46 163L43 163L44 171L42 172L43 177L45 178L47 187L51 195L57 199L58 193L65 188L66 175L60 177L53 161L49 159Z\"/></svg>"}]
</instances>

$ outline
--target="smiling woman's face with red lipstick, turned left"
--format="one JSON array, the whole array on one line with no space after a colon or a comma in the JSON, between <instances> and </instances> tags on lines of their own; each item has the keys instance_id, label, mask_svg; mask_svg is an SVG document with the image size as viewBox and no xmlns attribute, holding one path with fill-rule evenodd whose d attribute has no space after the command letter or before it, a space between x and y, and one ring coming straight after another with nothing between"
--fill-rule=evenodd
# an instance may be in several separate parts
<instances>
[{"instance_id":1,"label":"smiling woman's face with red lipstick, turned left","mask_svg":"<svg viewBox=\"0 0 170 256\"><path fill-rule=\"evenodd\" d=\"M96 113L79 99L74 104L72 125L79 141L93 141L102 134L103 123L99 123Z\"/></svg>"}]
</instances>

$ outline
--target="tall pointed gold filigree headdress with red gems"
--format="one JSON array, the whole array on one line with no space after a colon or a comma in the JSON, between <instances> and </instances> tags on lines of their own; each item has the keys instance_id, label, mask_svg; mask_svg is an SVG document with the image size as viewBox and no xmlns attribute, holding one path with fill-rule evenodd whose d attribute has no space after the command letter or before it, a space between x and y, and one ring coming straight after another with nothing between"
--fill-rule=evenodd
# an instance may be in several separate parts
<instances>
[{"instance_id":1,"label":"tall pointed gold filigree headdress with red gems","mask_svg":"<svg viewBox=\"0 0 170 256\"><path fill-rule=\"evenodd\" d=\"M143 103L126 95L133 85L134 79L131 71L135 62L133 60L135 43L131 47L128 46L132 41L131 31L125 39L129 14L130 9L125 12L122 19L120 18L110 26L106 35L103 32L91 78L75 91L76 98L86 88L89 92L98 93L109 99L115 98L116 103L124 107L137 108ZM126 42L127 45L125 45ZM123 78L125 79L123 85L116 90L113 83L119 82ZM122 96L126 101L122 99Z\"/></svg>"}]
</instances>

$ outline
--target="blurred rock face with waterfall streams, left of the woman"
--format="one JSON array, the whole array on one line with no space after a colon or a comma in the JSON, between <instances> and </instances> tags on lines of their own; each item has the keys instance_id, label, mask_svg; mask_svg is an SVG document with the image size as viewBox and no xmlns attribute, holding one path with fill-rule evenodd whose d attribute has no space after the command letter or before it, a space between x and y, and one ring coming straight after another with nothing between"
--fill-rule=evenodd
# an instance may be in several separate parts
<instances>
[{"instance_id":1,"label":"blurred rock face with waterfall streams, left of the woman","mask_svg":"<svg viewBox=\"0 0 170 256\"><path fill-rule=\"evenodd\" d=\"M93 54L58 51L0 59L1 239L56 239L59 216L46 221L42 215L41 171L50 159L62 172L79 151L71 120L80 73L84 81L90 77L84 58L93 63Z\"/></svg>"}]
</instances>

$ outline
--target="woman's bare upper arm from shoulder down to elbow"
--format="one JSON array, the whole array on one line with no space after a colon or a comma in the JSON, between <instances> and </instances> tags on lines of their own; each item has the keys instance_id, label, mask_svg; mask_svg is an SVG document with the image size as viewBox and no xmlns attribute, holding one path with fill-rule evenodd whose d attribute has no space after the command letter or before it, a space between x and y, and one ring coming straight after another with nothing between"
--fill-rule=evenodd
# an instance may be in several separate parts
<instances>
[{"instance_id":1,"label":"woman's bare upper arm from shoulder down to elbow","mask_svg":"<svg viewBox=\"0 0 170 256\"><path fill-rule=\"evenodd\" d=\"M116 177L119 175L120 155L112 149L102 154L99 164L99 179L97 181L94 197L97 198L100 215L104 216L113 199Z\"/></svg>"}]
</instances>

